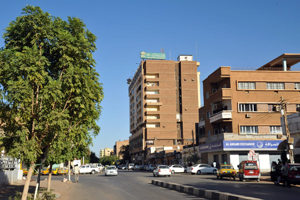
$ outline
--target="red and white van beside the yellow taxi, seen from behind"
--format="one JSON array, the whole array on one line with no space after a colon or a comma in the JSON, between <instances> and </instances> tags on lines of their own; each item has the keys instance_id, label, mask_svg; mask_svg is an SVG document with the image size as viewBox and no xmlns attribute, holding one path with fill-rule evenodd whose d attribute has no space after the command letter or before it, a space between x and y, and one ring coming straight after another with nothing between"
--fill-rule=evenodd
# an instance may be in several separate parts
<instances>
[{"instance_id":1,"label":"red and white van beside the yellow taxi, seen from behind","mask_svg":"<svg viewBox=\"0 0 300 200\"><path fill-rule=\"evenodd\" d=\"M254 160L243 160L237 165L238 178L240 181L253 179L259 181L260 171L259 167Z\"/></svg>"}]
</instances>

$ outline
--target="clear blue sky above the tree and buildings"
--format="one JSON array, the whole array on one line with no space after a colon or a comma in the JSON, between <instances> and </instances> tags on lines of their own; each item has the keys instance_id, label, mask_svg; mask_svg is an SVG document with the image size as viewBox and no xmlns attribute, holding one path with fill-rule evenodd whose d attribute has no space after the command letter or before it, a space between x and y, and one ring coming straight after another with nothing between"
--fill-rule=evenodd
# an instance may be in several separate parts
<instances>
[{"instance_id":1,"label":"clear blue sky above the tree and buildings","mask_svg":"<svg viewBox=\"0 0 300 200\"><path fill-rule=\"evenodd\" d=\"M26 4L65 20L79 17L97 36L93 56L104 87L101 130L90 147L97 156L129 137L126 79L140 51L164 48L172 60L192 54L201 82L219 66L259 67L300 52L299 0L10 0L1 2L1 35Z\"/></svg>"}]
</instances>

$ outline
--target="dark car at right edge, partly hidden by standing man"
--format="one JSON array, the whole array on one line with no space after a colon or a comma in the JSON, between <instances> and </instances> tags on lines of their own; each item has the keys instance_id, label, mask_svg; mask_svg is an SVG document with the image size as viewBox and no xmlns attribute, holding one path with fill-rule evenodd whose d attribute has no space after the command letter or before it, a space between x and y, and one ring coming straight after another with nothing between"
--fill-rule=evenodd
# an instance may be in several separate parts
<instances>
[{"instance_id":1,"label":"dark car at right edge, partly hidden by standing man","mask_svg":"<svg viewBox=\"0 0 300 200\"><path fill-rule=\"evenodd\" d=\"M288 180L290 184L300 184L300 163L287 163L288 168ZM283 176L280 171L282 164L273 164L271 165L271 181L277 184L277 176L280 176L279 182L283 183Z\"/></svg>"}]
</instances>

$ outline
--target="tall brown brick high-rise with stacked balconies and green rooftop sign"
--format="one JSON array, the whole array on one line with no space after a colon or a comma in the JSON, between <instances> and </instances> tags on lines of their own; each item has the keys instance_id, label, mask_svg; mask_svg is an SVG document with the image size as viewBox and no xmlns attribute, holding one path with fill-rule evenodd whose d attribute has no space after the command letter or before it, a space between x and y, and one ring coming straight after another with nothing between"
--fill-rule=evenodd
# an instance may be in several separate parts
<instances>
[{"instance_id":1,"label":"tall brown brick high-rise with stacked balconies and green rooftop sign","mask_svg":"<svg viewBox=\"0 0 300 200\"><path fill-rule=\"evenodd\" d=\"M192 143L199 121L198 65L192 55L140 62L128 82L132 162L166 162L167 152Z\"/></svg>"}]
</instances>

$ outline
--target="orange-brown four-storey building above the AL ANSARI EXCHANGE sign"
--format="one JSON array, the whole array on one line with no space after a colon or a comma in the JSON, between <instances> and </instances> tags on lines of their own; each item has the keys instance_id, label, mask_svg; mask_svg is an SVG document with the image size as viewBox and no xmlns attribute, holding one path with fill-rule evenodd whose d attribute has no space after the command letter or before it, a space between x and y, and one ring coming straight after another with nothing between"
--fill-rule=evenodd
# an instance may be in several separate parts
<instances>
[{"instance_id":1,"label":"orange-brown four-storey building above the AL ANSARI EXCHANGE sign","mask_svg":"<svg viewBox=\"0 0 300 200\"><path fill-rule=\"evenodd\" d=\"M201 162L236 167L255 150L260 168L280 158L286 138L280 124L281 96L286 113L300 109L300 71L291 68L300 54L282 54L259 68L221 66L203 80L197 141Z\"/></svg>"}]
</instances>

